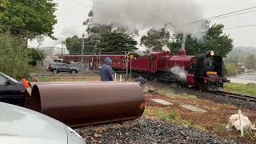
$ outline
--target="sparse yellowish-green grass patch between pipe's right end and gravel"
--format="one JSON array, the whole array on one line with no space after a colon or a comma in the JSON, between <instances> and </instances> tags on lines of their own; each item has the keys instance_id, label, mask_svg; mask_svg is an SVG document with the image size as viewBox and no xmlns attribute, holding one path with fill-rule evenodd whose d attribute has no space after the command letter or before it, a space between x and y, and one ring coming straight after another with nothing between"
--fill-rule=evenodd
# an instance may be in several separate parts
<instances>
[{"instance_id":1,"label":"sparse yellowish-green grass patch between pipe's right end and gravel","mask_svg":"<svg viewBox=\"0 0 256 144\"><path fill-rule=\"evenodd\" d=\"M193 121L182 119L175 111L166 110L162 107L147 106L144 115L158 119L162 122L175 123L180 126L194 127L199 130L205 130L202 126L196 125Z\"/></svg>"}]
</instances>

